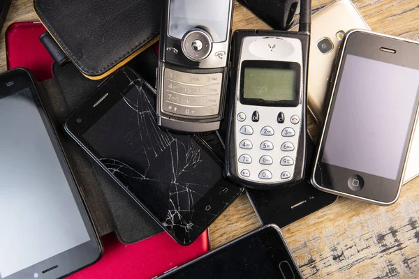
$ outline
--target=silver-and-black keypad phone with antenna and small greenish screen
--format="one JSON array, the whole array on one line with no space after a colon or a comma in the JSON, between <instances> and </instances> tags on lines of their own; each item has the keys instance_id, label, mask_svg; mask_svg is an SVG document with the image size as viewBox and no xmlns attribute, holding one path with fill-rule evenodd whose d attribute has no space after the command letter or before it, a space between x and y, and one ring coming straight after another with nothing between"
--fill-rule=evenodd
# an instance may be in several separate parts
<instances>
[{"instance_id":1,"label":"silver-and-black keypad phone with antenna and small greenish screen","mask_svg":"<svg viewBox=\"0 0 419 279\"><path fill-rule=\"evenodd\" d=\"M311 1L300 31L235 31L226 175L250 188L304 178Z\"/></svg>"}]
</instances>

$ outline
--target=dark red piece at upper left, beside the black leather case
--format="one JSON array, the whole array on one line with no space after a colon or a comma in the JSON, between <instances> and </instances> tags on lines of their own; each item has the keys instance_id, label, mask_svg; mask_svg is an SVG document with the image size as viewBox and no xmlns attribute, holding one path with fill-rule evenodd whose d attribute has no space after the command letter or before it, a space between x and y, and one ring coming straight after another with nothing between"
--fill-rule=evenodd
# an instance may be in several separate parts
<instances>
[{"instance_id":1,"label":"dark red piece at upper left, beside the black leather case","mask_svg":"<svg viewBox=\"0 0 419 279\"><path fill-rule=\"evenodd\" d=\"M7 68L24 67L34 73L39 82L52 78L54 60L39 36L47 31L41 22L15 22L6 30Z\"/></svg>"}]
</instances>

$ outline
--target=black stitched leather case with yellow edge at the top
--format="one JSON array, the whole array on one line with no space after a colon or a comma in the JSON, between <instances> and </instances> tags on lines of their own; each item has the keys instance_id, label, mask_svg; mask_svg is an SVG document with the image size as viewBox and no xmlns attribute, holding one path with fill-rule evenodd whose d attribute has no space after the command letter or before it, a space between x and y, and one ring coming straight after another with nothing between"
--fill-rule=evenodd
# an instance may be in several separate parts
<instances>
[{"instance_id":1,"label":"black stitched leather case with yellow edge at the top","mask_svg":"<svg viewBox=\"0 0 419 279\"><path fill-rule=\"evenodd\" d=\"M83 75L100 80L158 40L163 0L34 0L41 22Z\"/></svg>"}]
</instances>

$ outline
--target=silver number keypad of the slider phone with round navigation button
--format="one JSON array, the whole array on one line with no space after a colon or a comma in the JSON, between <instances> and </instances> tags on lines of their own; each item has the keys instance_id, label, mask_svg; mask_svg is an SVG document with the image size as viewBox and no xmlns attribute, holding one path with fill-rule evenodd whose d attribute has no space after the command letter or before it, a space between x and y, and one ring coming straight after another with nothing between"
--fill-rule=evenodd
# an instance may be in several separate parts
<instances>
[{"instance_id":1,"label":"silver number keypad of the slider phone with round navigation button","mask_svg":"<svg viewBox=\"0 0 419 279\"><path fill-rule=\"evenodd\" d=\"M223 74L191 74L164 69L163 111L180 116L219 113Z\"/></svg>"}]
</instances>

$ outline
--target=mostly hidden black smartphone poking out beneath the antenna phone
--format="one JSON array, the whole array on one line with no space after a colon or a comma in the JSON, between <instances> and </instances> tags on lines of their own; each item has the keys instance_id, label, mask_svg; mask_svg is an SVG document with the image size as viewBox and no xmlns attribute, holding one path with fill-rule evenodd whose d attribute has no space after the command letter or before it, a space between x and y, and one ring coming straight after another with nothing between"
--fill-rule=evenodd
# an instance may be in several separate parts
<instances>
[{"instance_id":1,"label":"mostly hidden black smartphone poking out beneath the antenna phone","mask_svg":"<svg viewBox=\"0 0 419 279\"><path fill-rule=\"evenodd\" d=\"M247 189L247 195L262 224L286 227L336 202L337 195L317 190L310 183L313 153L314 142L308 134L307 168L305 178L300 183L274 190Z\"/></svg>"}]
</instances>

